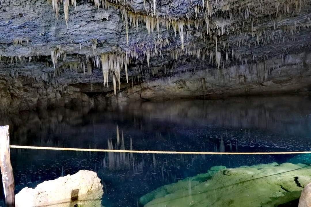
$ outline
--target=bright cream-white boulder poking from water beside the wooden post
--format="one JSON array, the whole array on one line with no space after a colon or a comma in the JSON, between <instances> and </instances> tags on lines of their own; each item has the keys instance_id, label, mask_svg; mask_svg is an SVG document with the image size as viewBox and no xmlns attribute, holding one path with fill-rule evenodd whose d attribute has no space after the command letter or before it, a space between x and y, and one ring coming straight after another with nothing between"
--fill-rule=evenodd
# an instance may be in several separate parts
<instances>
[{"instance_id":1,"label":"bright cream-white boulder poking from water beside the wooden post","mask_svg":"<svg viewBox=\"0 0 311 207\"><path fill-rule=\"evenodd\" d=\"M15 197L16 207L101 207L103 185L95 172L80 170L55 180L44 181L35 189L25 187Z\"/></svg>"}]
</instances>

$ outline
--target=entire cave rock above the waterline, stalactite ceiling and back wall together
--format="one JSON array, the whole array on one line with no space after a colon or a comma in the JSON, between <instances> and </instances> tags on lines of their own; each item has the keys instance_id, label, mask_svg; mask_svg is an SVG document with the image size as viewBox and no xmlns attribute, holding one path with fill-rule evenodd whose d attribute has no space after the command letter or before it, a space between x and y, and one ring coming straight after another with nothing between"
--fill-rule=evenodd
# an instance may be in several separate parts
<instances>
[{"instance_id":1,"label":"entire cave rock above the waterline, stalactite ceiling and back wall together","mask_svg":"<svg viewBox=\"0 0 311 207\"><path fill-rule=\"evenodd\" d=\"M2 0L0 110L310 90L309 0Z\"/></svg>"}]
</instances>

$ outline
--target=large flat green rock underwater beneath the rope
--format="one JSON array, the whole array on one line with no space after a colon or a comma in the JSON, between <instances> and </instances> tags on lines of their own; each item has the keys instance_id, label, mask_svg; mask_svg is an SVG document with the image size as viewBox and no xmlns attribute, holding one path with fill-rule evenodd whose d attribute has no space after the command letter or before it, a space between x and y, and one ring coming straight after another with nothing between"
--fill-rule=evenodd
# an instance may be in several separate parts
<instances>
[{"instance_id":1,"label":"large flat green rock underwater beneath the rope","mask_svg":"<svg viewBox=\"0 0 311 207\"><path fill-rule=\"evenodd\" d=\"M278 206L299 199L310 180L311 168L305 164L220 168L160 187L142 196L140 203L145 207Z\"/></svg>"}]
</instances>

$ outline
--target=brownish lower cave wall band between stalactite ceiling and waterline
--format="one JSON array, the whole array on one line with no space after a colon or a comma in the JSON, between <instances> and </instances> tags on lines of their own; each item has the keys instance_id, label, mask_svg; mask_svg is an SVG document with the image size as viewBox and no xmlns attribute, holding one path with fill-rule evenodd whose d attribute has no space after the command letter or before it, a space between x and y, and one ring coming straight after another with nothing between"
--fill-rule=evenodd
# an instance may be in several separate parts
<instances>
[{"instance_id":1,"label":"brownish lower cave wall band between stalactite ceiling and waterline","mask_svg":"<svg viewBox=\"0 0 311 207\"><path fill-rule=\"evenodd\" d=\"M24 63L24 67L27 63ZM180 98L217 99L240 95L280 93L308 94L311 85L311 53L302 52L274 57L259 63L233 65L226 69L191 69L180 65L169 77L150 79L129 77L114 95L113 86L103 84L100 72L86 78L83 74L64 71L59 78L33 78L40 71L0 78L0 111L47 109L49 107L103 108L131 101ZM2 74L5 74L2 70ZM91 83L90 83L91 81Z\"/></svg>"}]
</instances>

